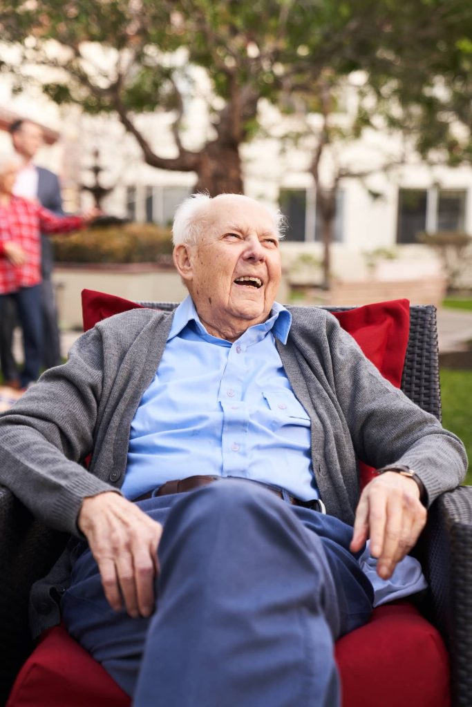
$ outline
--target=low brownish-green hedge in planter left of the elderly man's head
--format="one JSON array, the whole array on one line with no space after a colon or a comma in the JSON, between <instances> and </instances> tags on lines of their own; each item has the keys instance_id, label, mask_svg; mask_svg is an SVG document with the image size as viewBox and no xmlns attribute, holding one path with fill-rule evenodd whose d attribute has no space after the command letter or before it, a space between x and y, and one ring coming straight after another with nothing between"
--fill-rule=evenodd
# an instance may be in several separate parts
<instances>
[{"instance_id":1,"label":"low brownish-green hedge in planter left of the elderly man's head","mask_svg":"<svg viewBox=\"0 0 472 707\"><path fill-rule=\"evenodd\" d=\"M171 231L152 223L91 228L51 240L57 262L153 263L172 253Z\"/></svg>"}]
</instances>

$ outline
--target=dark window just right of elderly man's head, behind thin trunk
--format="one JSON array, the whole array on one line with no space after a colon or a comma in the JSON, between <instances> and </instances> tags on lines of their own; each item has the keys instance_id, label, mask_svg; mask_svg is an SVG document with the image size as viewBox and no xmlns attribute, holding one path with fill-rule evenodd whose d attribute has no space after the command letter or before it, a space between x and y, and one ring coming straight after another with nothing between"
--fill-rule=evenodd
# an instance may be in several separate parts
<instances>
[{"instance_id":1,"label":"dark window just right of elderly man's head, behind thin trunk","mask_svg":"<svg viewBox=\"0 0 472 707\"><path fill-rule=\"evenodd\" d=\"M344 192L336 194L333 233L335 242L343 240ZM280 189L280 211L287 217L286 240L321 241L323 226L319 209L316 209L314 189Z\"/></svg>"}]
</instances>

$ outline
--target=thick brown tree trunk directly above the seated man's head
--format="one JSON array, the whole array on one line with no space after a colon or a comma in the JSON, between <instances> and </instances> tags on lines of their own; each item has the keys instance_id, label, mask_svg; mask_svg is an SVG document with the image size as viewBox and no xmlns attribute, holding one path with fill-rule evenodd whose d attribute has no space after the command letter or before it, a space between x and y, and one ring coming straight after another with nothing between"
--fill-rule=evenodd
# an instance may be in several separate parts
<instances>
[{"instance_id":1,"label":"thick brown tree trunk directly above the seated man's head","mask_svg":"<svg viewBox=\"0 0 472 707\"><path fill-rule=\"evenodd\" d=\"M203 148L197 166L195 191L218 194L243 194L239 146L215 140Z\"/></svg>"}]
</instances>

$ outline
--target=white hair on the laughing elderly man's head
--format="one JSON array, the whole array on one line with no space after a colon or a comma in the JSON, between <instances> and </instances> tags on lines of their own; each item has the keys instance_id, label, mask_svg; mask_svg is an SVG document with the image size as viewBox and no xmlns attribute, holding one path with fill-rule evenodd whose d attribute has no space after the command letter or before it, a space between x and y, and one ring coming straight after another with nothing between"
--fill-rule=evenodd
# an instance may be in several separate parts
<instances>
[{"instance_id":1,"label":"white hair on the laughing elderly man's head","mask_svg":"<svg viewBox=\"0 0 472 707\"><path fill-rule=\"evenodd\" d=\"M229 196L229 194L225 194ZM214 197L216 198L216 197ZM246 197L251 198L251 197ZM255 201L255 199L251 199ZM178 206L175 211L175 216L172 226L172 241L173 245L180 243L195 244L202 235L205 228L205 211L212 202L212 197L209 194L192 194L191 197ZM259 203L255 201L255 203ZM284 228L286 226L286 218L280 210L272 211L267 209L274 220L275 230L279 240L284 238Z\"/></svg>"}]
</instances>

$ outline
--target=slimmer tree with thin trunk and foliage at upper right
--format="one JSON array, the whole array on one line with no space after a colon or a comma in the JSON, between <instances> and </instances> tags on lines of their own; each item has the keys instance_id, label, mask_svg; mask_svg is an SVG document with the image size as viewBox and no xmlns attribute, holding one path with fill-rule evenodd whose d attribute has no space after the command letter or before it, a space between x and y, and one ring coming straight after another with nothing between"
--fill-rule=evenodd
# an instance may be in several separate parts
<instances>
[{"instance_id":1,"label":"slimmer tree with thin trunk and foliage at upper right","mask_svg":"<svg viewBox=\"0 0 472 707\"><path fill-rule=\"evenodd\" d=\"M325 28L335 23L332 17ZM306 66L289 83L288 100L301 119L296 138L311 154L307 166L321 216L325 288L343 179L366 180L418 156L451 166L471 163L471 33L472 7L463 0L420 0L398 8L382 1L350 4L338 26L338 52L321 71ZM308 42L304 49L312 57L317 37ZM355 107L340 110L353 80ZM359 168L346 148L379 130L395 134L401 148L379 152Z\"/></svg>"}]
</instances>

